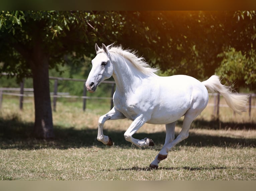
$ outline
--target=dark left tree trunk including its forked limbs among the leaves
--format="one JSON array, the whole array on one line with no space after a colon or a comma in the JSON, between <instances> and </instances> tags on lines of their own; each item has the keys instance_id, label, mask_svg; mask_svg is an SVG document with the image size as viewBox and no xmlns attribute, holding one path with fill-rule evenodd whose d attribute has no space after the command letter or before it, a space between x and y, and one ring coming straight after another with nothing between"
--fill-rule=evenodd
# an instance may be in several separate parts
<instances>
[{"instance_id":1,"label":"dark left tree trunk including its forked limbs among the leaves","mask_svg":"<svg viewBox=\"0 0 256 191\"><path fill-rule=\"evenodd\" d=\"M40 24L31 25L32 40L29 46L22 43L13 46L24 57L32 71L35 104L34 136L51 139L54 133L49 88L49 55L39 35L43 30Z\"/></svg>"}]
</instances>

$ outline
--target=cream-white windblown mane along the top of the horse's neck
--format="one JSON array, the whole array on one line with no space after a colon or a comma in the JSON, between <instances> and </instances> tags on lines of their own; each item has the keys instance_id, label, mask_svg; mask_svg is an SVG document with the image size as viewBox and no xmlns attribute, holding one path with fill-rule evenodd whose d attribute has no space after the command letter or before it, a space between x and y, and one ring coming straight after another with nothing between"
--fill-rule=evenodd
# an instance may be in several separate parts
<instances>
[{"instance_id":1,"label":"cream-white windblown mane along the top of the horse's neck","mask_svg":"<svg viewBox=\"0 0 256 191\"><path fill-rule=\"evenodd\" d=\"M136 55L136 51L129 49L124 50L121 45L118 47L114 47L113 44L108 45L107 48L110 53L118 54L129 60L140 72L142 72L145 75L153 75L159 70L157 68L151 68L143 57L138 57ZM103 49L101 50L103 51Z\"/></svg>"}]
</instances>

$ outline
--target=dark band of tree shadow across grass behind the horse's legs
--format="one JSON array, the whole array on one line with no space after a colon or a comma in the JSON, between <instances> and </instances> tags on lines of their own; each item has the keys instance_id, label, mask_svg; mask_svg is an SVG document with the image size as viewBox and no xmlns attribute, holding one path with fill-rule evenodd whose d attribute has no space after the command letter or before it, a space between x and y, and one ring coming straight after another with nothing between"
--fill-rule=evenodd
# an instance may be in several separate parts
<instances>
[{"instance_id":1,"label":"dark band of tree shadow across grass behind the horse's legs","mask_svg":"<svg viewBox=\"0 0 256 191\"><path fill-rule=\"evenodd\" d=\"M178 122L180 123L180 122ZM218 125L214 124L217 123ZM178 124L179 125L179 124ZM196 120L193 122L191 128L199 126L201 128L215 128L219 129L219 122L214 121L203 121ZM249 129L255 127L255 124L235 124L235 123L221 123L221 126L225 128L241 128ZM60 126L54 126L55 139L53 140L41 140L35 139L32 136L33 123L24 123L19 120L18 117L10 117L9 119L3 119L0 117L0 149L40 149L40 148L57 148L57 149L68 149L68 148L81 148L98 146L105 148L107 147L103 143L99 142L97 137L97 127L95 129L75 129L74 127L63 128ZM104 130L105 135L109 135L115 145L123 148L130 148L131 143L124 139L124 131L108 131ZM177 136L177 135L175 135ZM157 133L136 133L133 136L137 139L143 139L144 137L151 138L155 146L153 149L159 150L162 147L165 139L165 132ZM221 134L219 136L200 135L196 133L190 133L189 137L179 145L186 146L219 146L219 147L255 147L256 138L245 139L245 138L233 138L224 137ZM135 146L134 146L135 147ZM133 147L133 148L134 148ZM142 148L142 149L148 149Z\"/></svg>"}]
</instances>

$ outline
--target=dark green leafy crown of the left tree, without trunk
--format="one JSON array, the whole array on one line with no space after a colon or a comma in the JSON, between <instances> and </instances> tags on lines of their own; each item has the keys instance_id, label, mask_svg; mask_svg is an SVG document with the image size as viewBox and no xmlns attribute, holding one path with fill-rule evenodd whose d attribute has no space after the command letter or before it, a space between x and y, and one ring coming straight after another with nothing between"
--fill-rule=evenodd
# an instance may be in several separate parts
<instances>
[{"instance_id":1,"label":"dark green leafy crown of the left tree, without trunk","mask_svg":"<svg viewBox=\"0 0 256 191\"><path fill-rule=\"evenodd\" d=\"M95 52L96 42L117 38L120 19L110 11L1 11L0 61L5 64L0 69L20 78L30 76L27 61L35 46L48 55L51 68L58 69L56 63L67 61L77 64L84 54Z\"/></svg>"}]
</instances>

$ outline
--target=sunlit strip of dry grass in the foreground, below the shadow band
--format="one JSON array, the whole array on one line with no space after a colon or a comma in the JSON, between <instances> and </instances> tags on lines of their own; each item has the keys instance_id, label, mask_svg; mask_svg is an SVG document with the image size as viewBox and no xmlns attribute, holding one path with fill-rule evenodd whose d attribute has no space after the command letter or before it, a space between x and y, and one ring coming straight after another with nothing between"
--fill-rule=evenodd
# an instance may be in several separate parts
<instances>
[{"instance_id":1,"label":"sunlit strip of dry grass in the foreground, below the shadow band","mask_svg":"<svg viewBox=\"0 0 256 191\"><path fill-rule=\"evenodd\" d=\"M137 148L1 150L0 177L12 180L255 180L255 148L178 146L147 169L157 151Z\"/></svg>"}]
</instances>

